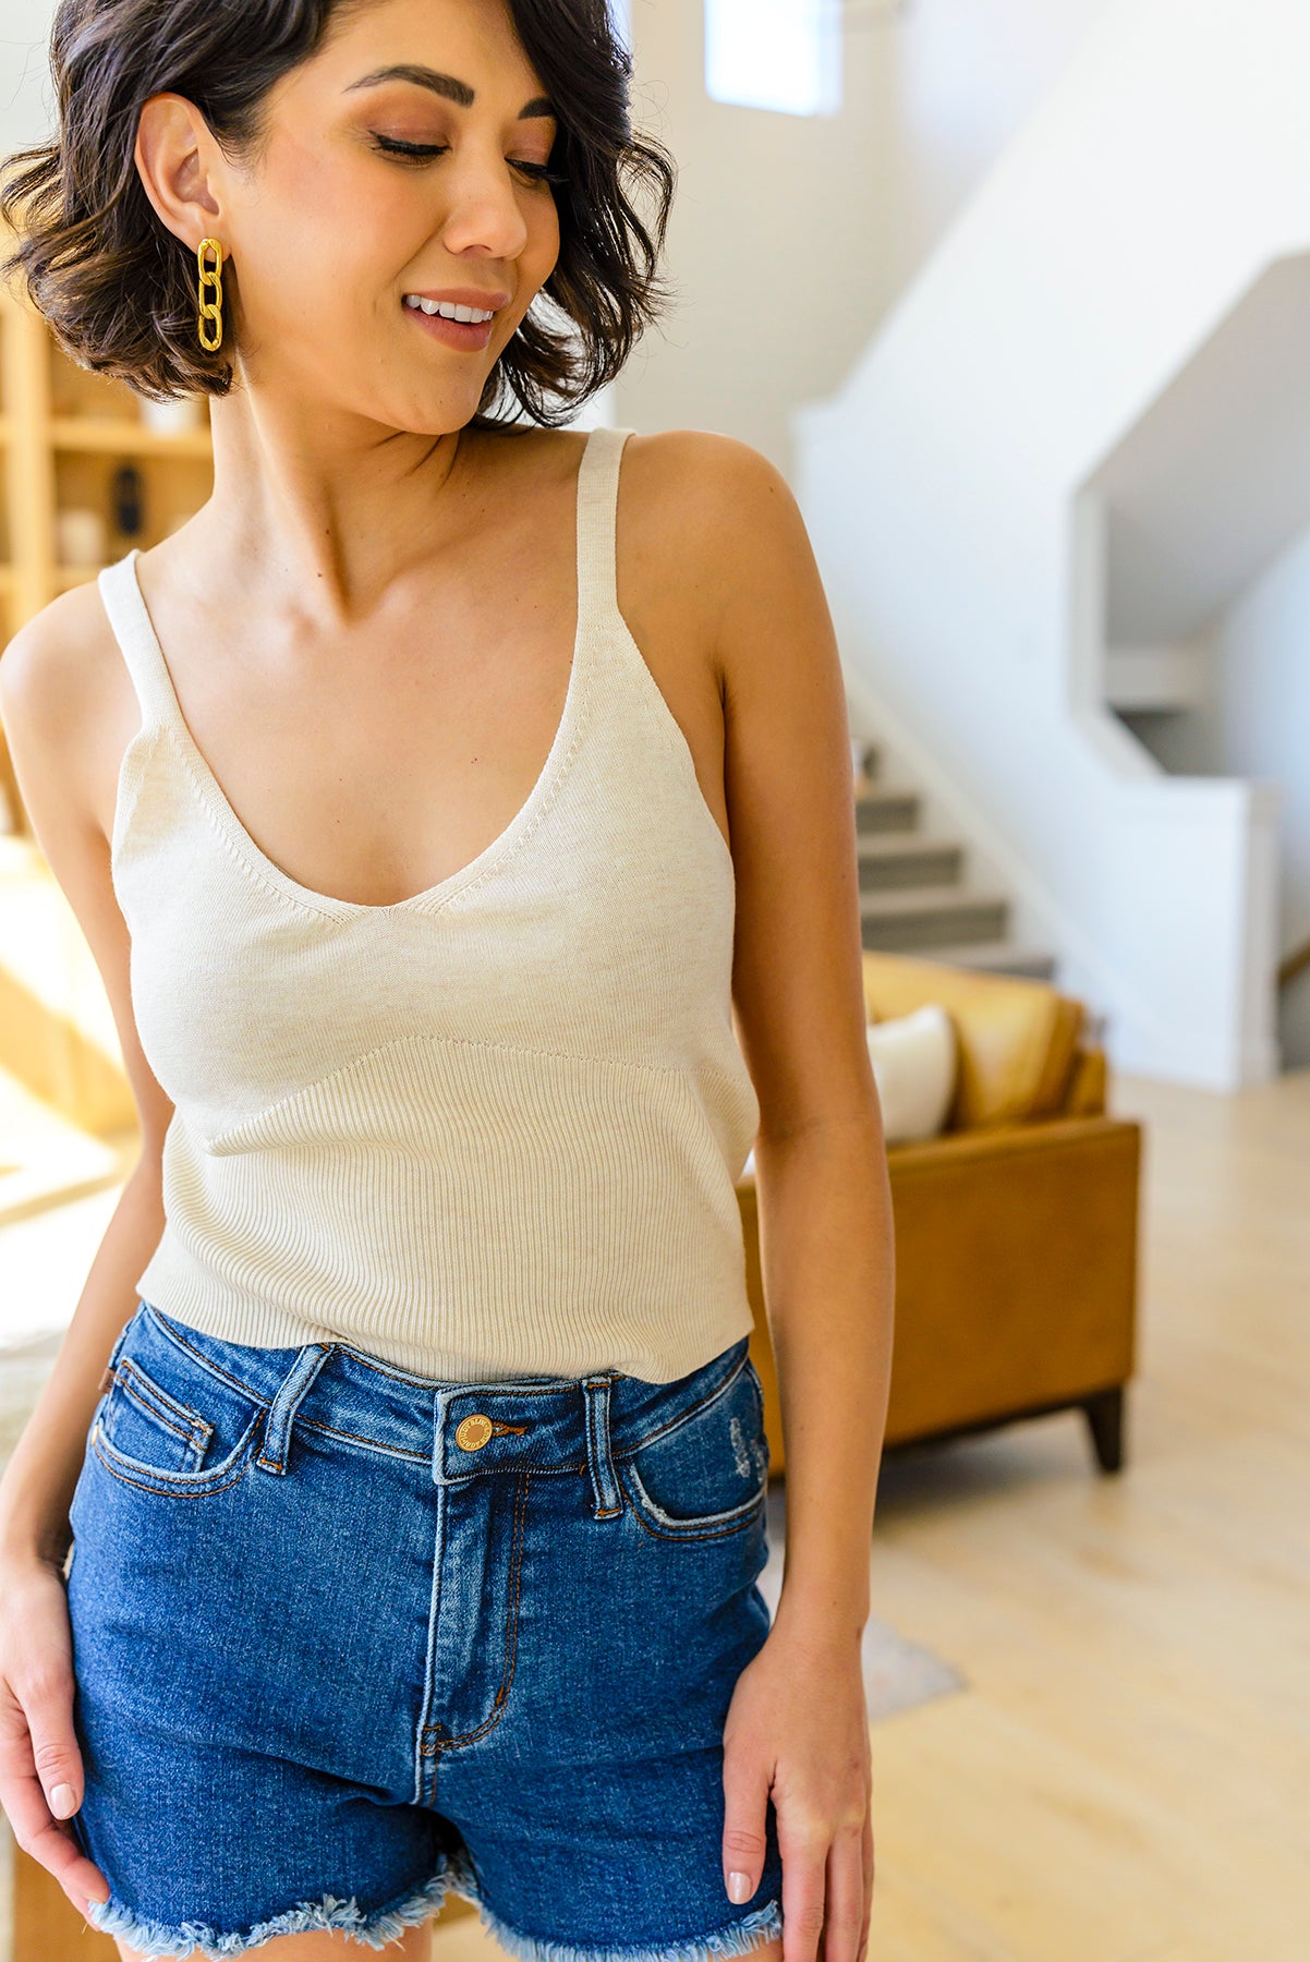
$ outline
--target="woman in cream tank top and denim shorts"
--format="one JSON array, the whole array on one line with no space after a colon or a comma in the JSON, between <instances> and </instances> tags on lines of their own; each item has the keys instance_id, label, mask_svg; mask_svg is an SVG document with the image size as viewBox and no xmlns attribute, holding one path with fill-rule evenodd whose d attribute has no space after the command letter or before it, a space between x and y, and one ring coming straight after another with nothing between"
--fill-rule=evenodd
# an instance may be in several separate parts
<instances>
[{"instance_id":1,"label":"woman in cream tank top and denim shorts","mask_svg":"<svg viewBox=\"0 0 1310 1962\"><path fill-rule=\"evenodd\" d=\"M18 265L212 396L214 492L2 663L143 1144L0 1483L0 1801L126 1958L420 1956L455 1887L541 1962L857 1962L845 700L765 459L561 426L655 316L628 57L602 0L63 0L53 67Z\"/></svg>"}]
</instances>

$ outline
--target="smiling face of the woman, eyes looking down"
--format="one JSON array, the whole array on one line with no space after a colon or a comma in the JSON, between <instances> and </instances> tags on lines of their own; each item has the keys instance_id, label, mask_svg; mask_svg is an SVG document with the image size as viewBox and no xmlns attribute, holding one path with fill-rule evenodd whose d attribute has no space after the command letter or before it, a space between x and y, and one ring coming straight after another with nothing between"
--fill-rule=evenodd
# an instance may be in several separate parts
<instances>
[{"instance_id":1,"label":"smiling face of the woman, eyes looking down","mask_svg":"<svg viewBox=\"0 0 1310 1962\"><path fill-rule=\"evenodd\" d=\"M224 173L214 235L247 383L316 414L461 428L559 257L553 137L502 0L375 0L333 22L273 90L253 173ZM443 322L414 294L494 312Z\"/></svg>"}]
</instances>

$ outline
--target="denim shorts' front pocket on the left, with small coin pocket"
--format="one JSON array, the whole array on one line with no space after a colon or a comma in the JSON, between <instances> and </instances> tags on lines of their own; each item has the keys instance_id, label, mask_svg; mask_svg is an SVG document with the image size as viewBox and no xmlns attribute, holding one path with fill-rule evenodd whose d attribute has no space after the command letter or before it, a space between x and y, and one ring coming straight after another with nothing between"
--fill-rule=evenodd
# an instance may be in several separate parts
<instances>
[{"instance_id":1,"label":"denim shorts' front pocket on the left, with small coin pocket","mask_svg":"<svg viewBox=\"0 0 1310 1962\"><path fill-rule=\"evenodd\" d=\"M239 1475L265 1405L145 1315L127 1330L90 1444L127 1485L198 1495Z\"/></svg>"}]
</instances>

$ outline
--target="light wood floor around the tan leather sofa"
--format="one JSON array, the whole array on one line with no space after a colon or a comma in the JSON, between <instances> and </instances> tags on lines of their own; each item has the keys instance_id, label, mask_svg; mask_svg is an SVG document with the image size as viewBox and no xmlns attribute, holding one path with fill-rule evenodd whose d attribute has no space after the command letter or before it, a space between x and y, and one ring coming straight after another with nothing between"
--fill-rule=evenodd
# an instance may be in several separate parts
<instances>
[{"instance_id":1,"label":"light wood floor around the tan leather sofa","mask_svg":"<svg viewBox=\"0 0 1310 1962\"><path fill-rule=\"evenodd\" d=\"M1310 1962L1310 1071L1112 1109L1145 1120L1124 1473L1073 1415L882 1468L875 1613L967 1687L875 1725L871 1962Z\"/></svg>"}]
</instances>

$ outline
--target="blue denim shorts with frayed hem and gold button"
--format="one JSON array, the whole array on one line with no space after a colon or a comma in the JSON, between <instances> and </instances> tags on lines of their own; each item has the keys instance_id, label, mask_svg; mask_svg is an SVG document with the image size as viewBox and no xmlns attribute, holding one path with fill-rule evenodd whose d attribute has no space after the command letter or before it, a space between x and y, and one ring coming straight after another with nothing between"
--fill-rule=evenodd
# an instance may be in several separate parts
<instances>
[{"instance_id":1,"label":"blue denim shorts with frayed hem and gold button","mask_svg":"<svg viewBox=\"0 0 1310 1962\"><path fill-rule=\"evenodd\" d=\"M724 1721L769 1632L743 1336L673 1383L445 1381L122 1330L67 1568L88 1919L145 1954L369 1948L447 1889L531 1962L743 1954Z\"/></svg>"}]
</instances>

